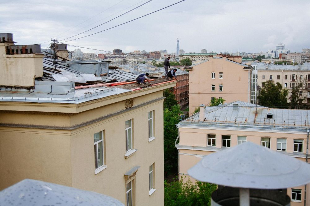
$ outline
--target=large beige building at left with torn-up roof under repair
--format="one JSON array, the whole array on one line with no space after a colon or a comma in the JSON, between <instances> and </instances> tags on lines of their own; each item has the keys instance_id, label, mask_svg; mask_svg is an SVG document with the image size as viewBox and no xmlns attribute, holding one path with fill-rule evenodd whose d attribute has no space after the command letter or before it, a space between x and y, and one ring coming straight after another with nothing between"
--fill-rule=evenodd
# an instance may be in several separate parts
<instances>
[{"instance_id":1,"label":"large beige building at left with torn-up roof under repair","mask_svg":"<svg viewBox=\"0 0 310 206\"><path fill-rule=\"evenodd\" d=\"M0 36L0 190L30 178L163 205L163 90L175 81L130 84L136 74L102 60L55 65Z\"/></svg>"}]
</instances>

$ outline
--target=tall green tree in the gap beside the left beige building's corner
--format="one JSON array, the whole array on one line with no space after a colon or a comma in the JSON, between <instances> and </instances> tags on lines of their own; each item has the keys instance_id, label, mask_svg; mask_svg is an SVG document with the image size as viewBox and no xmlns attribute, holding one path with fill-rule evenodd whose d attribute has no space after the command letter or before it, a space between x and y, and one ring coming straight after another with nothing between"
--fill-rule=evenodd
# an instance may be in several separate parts
<instances>
[{"instance_id":1,"label":"tall green tree in the gap beside the left beige building's corner","mask_svg":"<svg viewBox=\"0 0 310 206\"><path fill-rule=\"evenodd\" d=\"M180 106L174 105L171 109L164 109L164 171L177 171L178 150L175 148L175 139L178 128L175 124L180 122Z\"/></svg>"}]
</instances>

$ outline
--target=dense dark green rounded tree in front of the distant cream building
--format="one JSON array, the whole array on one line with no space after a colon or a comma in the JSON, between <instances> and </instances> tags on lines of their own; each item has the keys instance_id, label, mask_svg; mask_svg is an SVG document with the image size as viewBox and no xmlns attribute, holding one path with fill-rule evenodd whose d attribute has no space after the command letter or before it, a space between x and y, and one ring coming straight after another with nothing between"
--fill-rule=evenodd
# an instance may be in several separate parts
<instances>
[{"instance_id":1,"label":"dense dark green rounded tree in front of the distant cream building","mask_svg":"<svg viewBox=\"0 0 310 206\"><path fill-rule=\"evenodd\" d=\"M259 105L270 108L288 108L287 95L288 90L283 89L280 82L274 84L273 80L267 80L262 83L259 91Z\"/></svg>"}]
</instances>

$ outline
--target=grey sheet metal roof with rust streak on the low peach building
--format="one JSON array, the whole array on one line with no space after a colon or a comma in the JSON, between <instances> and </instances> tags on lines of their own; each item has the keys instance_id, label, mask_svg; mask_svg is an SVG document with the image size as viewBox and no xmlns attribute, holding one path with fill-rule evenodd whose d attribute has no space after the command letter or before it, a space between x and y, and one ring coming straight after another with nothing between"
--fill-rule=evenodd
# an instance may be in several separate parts
<instances>
[{"instance_id":1,"label":"grey sheet metal roof with rust streak on the low peach building","mask_svg":"<svg viewBox=\"0 0 310 206\"><path fill-rule=\"evenodd\" d=\"M257 105L256 113L255 104L235 101L219 106L207 106L204 121L199 121L198 112L180 122L179 125L309 128L309 117L310 110L306 109L273 109L260 105Z\"/></svg>"}]
</instances>

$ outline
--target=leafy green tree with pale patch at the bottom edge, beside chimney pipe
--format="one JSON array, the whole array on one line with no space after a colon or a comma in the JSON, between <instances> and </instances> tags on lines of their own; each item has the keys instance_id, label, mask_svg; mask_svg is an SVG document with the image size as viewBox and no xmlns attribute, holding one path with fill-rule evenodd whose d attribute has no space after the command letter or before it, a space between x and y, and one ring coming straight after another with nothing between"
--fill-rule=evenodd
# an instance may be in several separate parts
<instances>
[{"instance_id":1,"label":"leafy green tree with pale patch at the bottom edge, beside chimney pipe","mask_svg":"<svg viewBox=\"0 0 310 206\"><path fill-rule=\"evenodd\" d=\"M190 179L184 182L183 177L179 181L166 182L164 188L165 205L180 206L193 205L205 206L211 204L212 192L217 189L217 185Z\"/></svg>"}]
</instances>

